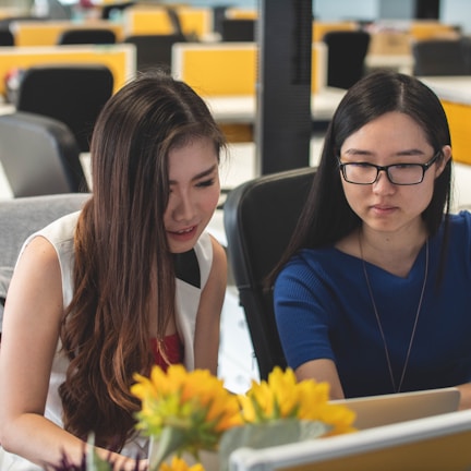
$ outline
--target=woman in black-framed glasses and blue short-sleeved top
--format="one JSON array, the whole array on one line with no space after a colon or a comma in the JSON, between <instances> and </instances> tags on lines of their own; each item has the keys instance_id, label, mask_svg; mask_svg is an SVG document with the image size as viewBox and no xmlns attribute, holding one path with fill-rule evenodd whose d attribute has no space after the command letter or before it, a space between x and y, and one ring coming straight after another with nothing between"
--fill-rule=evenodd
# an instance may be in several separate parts
<instances>
[{"instance_id":1,"label":"woman in black-framed glasses and blue short-sleeved top","mask_svg":"<svg viewBox=\"0 0 471 471\"><path fill-rule=\"evenodd\" d=\"M450 181L430 88L378 72L349 89L274 274L299 379L334 399L458 386L471 406L471 214L449 214Z\"/></svg>"}]
</instances>

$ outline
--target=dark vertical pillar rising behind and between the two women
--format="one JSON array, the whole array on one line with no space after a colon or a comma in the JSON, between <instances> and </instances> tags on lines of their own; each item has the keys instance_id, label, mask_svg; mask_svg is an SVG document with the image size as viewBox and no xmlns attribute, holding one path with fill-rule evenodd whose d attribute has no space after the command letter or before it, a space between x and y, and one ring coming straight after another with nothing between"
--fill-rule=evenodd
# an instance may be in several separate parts
<instances>
[{"instance_id":1,"label":"dark vertical pillar rising behind and between the two women","mask_svg":"<svg viewBox=\"0 0 471 471\"><path fill-rule=\"evenodd\" d=\"M259 0L255 120L259 174L310 164L312 5L313 0Z\"/></svg>"}]
</instances>

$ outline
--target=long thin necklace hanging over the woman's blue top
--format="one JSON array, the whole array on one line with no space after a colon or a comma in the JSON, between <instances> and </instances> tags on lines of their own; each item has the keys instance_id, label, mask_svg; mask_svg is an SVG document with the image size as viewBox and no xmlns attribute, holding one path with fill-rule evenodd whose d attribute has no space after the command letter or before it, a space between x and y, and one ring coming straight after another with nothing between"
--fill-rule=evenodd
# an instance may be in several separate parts
<instances>
[{"instance_id":1,"label":"long thin necklace hanging over the woman's blue top","mask_svg":"<svg viewBox=\"0 0 471 471\"><path fill-rule=\"evenodd\" d=\"M424 297L426 280L427 280L427 277L428 277L428 239L425 241L425 273L424 273L424 281L423 281L423 285L422 285L422 291L421 291L421 295L420 295L420 299L419 299L419 305L418 305L418 310L416 310L416 313L415 313L415 319L414 319L414 324L413 324L413 327L412 327L412 333L411 333L411 337L410 337L410 340L409 340L409 347L408 347L408 350L407 350L407 353L406 353L406 360L404 360L404 364L402 366L402 373L401 373L401 377L400 377L398 387L396 387L396 381L395 381L395 377L394 377L394 374L392 374L392 366L391 366L391 362L390 362L390 358L389 358L389 349L387 347L386 337L385 337L384 330L383 330L383 325L382 325L382 322L381 322L381 318L379 318L379 314L378 314L378 311L377 311L377 307L376 307L376 302L375 302L375 299L374 299L374 295L373 295L373 290L372 290L372 287L371 287L371 283L370 283L370 277L369 277L369 274L367 274L367 270L366 270L366 264L365 264L365 261L363 258L363 246L362 246L362 242L361 242L360 232L359 232L359 245L360 245L360 255L361 255L362 265L363 265L363 273L364 273L364 277L365 277L365 280L366 280L366 286L367 286L367 289L369 289L369 292L370 292L370 299L371 299L371 302L372 302L372 305L373 305L373 311L375 313L376 323L378 325L379 334L381 334L382 339L383 339L383 346L384 346L384 349L385 349L386 361L387 361L387 365L388 365L388 370L389 370L389 376L390 376L391 384L392 384L392 390L395 392L400 392L400 390L402 388L403 378L406 376L406 371L407 371L407 367L408 367L408 363L409 363L409 357L410 357L410 353L411 353L411 350L412 350L412 343L413 343L413 340L414 340L414 337L415 337L415 329L416 329L416 325L418 325L418 322L419 322L419 315L420 315L420 312L421 312L421 309L422 309L422 300L423 300L423 297Z\"/></svg>"}]
</instances>

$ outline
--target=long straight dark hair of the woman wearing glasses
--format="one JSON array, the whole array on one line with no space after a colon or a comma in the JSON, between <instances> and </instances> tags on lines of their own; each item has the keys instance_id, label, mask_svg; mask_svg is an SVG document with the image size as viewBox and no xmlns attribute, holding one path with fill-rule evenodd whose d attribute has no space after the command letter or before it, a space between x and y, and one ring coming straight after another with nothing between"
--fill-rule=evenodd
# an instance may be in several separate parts
<instances>
[{"instance_id":1,"label":"long straight dark hair of the woman wearing glasses","mask_svg":"<svg viewBox=\"0 0 471 471\"><path fill-rule=\"evenodd\" d=\"M381 71L366 75L353 85L329 123L321 162L298 228L269 282L300 249L335 244L361 226L361 219L350 208L343 193L338 167L339 152L347 137L390 111L412 118L423 129L435 153L451 144L448 121L438 97L418 78ZM450 188L451 159L435 180L432 201L422 214L430 235L437 232L444 215L448 218Z\"/></svg>"}]
</instances>

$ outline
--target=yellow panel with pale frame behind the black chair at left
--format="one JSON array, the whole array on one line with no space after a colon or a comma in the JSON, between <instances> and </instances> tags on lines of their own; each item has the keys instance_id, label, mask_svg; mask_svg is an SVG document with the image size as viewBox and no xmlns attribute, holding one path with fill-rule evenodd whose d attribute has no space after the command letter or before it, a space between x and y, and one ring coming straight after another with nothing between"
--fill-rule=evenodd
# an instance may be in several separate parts
<instances>
[{"instance_id":1,"label":"yellow panel with pale frame behind the black chair at left","mask_svg":"<svg viewBox=\"0 0 471 471\"><path fill-rule=\"evenodd\" d=\"M4 77L12 69L26 69L32 65L104 64L113 74L116 92L132 78L135 73L134 48L130 46L0 47L0 77ZM132 67L133 63L134 68ZM4 93L4 82L1 80L0 94Z\"/></svg>"}]
</instances>

